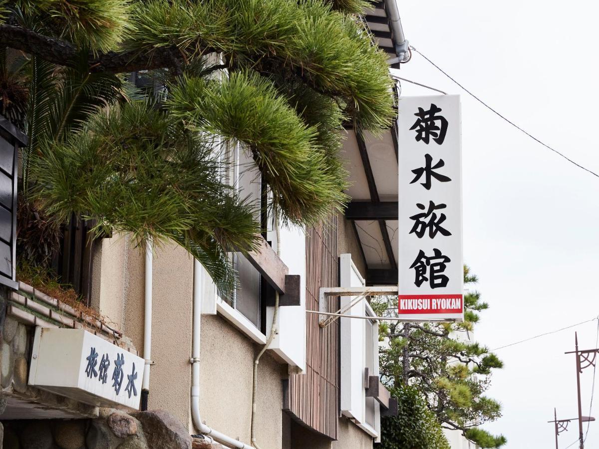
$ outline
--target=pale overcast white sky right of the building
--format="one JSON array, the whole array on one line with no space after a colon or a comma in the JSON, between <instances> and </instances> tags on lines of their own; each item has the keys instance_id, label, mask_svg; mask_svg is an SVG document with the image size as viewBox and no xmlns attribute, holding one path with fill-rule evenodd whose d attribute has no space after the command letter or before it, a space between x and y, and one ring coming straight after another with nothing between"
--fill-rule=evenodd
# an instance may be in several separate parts
<instances>
[{"instance_id":1,"label":"pale overcast white sky right of the building","mask_svg":"<svg viewBox=\"0 0 599 449\"><path fill-rule=\"evenodd\" d=\"M599 172L597 2L400 2L410 43L510 120ZM464 259L491 309L476 339L491 348L599 314L599 178L503 122L418 54L399 75L462 95ZM434 92L402 83L403 95ZM554 447L558 418L577 415L574 330L595 347L597 321L498 350L485 428L507 448ZM599 369L597 370L599 371ZM594 414L599 417L599 373ZM583 415L593 371L582 375ZM585 425L586 430L586 425ZM565 448L577 423L559 436ZM577 445L573 445L577 447ZM599 419L587 448L599 447Z\"/></svg>"}]
</instances>

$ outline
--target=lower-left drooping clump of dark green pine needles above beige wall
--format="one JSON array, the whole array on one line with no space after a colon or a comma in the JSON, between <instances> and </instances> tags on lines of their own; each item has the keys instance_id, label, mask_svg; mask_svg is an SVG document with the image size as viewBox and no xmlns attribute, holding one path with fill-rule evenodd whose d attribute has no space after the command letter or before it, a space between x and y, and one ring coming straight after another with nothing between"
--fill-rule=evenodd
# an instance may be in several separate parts
<instances>
[{"instance_id":1,"label":"lower-left drooping clump of dark green pine needles above beige wall","mask_svg":"<svg viewBox=\"0 0 599 449\"><path fill-rule=\"evenodd\" d=\"M230 289L226 252L249 249L256 226L252 208L215 176L212 152L171 114L135 101L95 114L62 144L46 142L32 166L42 204L58 219L75 212L94 217L99 231L171 238Z\"/></svg>"}]
</instances>

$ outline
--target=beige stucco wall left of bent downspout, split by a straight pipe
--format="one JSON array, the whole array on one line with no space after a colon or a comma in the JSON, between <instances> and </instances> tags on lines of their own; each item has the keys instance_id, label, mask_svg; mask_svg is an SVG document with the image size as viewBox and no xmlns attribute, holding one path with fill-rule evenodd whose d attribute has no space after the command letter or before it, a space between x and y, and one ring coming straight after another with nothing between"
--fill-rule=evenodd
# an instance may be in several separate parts
<instances>
[{"instance_id":1,"label":"beige stucco wall left of bent downspout, split by a straight pipe","mask_svg":"<svg viewBox=\"0 0 599 449\"><path fill-rule=\"evenodd\" d=\"M99 263L98 263L99 262ZM97 265L96 265L97 264ZM144 351L144 248L128 235L103 239L95 255L92 306ZM99 280L98 280L99 278ZM153 252L149 409L190 423L193 260L175 243Z\"/></svg>"}]
</instances>

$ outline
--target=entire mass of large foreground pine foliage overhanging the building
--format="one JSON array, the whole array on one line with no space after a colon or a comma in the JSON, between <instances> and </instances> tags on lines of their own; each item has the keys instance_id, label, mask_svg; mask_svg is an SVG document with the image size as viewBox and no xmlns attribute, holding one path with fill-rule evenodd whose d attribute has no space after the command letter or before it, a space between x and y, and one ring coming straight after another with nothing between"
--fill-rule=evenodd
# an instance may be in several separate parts
<instances>
[{"instance_id":1,"label":"entire mass of large foreground pine foliage overhanging the building","mask_svg":"<svg viewBox=\"0 0 599 449\"><path fill-rule=\"evenodd\" d=\"M358 16L364 7L362 0L3 2L0 43L26 66L25 77L4 71L22 87L13 93L25 105L9 105L6 95L3 106L25 115L29 209L60 220L83 214L98 229L140 240L175 239L230 290L226 253L252 249L261 229L247 202L220 181L222 162L209 148L219 136L252 156L282 222L313 224L342 210L341 129L349 122L377 132L394 116L393 81ZM135 101L125 92L126 72L140 70L164 78L160 102L152 92Z\"/></svg>"}]
</instances>

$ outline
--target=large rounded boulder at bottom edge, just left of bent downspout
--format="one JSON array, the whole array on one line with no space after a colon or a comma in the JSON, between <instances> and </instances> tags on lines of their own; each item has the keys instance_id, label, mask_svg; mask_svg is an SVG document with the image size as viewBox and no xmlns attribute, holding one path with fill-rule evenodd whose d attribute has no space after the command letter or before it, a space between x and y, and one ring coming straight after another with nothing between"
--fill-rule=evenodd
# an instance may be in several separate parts
<instances>
[{"instance_id":1,"label":"large rounded boulder at bottom edge, just left of bent downspout","mask_svg":"<svg viewBox=\"0 0 599 449\"><path fill-rule=\"evenodd\" d=\"M131 415L140 421L149 449L192 449L187 429L169 412L140 411Z\"/></svg>"}]
</instances>

